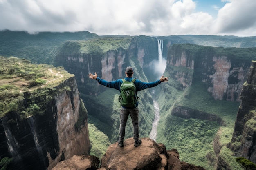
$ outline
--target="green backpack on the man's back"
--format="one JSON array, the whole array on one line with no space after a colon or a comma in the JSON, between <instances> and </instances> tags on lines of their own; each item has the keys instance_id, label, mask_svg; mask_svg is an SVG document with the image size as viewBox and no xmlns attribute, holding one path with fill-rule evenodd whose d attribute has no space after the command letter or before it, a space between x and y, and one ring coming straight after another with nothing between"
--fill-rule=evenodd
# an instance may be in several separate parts
<instances>
[{"instance_id":1,"label":"green backpack on the man's back","mask_svg":"<svg viewBox=\"0 0 256 170\"><path fill-rule=\"evenodd\" d=\"M119 102L124 107L134 107L136 100L139 98L136 95L135 80L136 79L132 79L132 81L129 82L122 79L123 83L120 86L121 95L119 96Z\"/></svg>"}]
</instances>

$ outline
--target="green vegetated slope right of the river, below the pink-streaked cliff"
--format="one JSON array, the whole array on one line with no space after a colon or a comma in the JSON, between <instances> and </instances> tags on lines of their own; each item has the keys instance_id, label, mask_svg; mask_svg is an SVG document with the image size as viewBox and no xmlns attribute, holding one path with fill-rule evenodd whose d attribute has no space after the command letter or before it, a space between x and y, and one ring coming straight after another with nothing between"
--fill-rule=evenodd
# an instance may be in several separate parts
<instances>
[{"instance_id":1,"label":"green vegetated slope right of the river, below the pink-streaked cliff","mask_svg":"<svg viewBox=\"0 0 256 170\"><path fill-rule=\"evenodd\" d=\"M202 86L191 86L183 93L171 86L166 85L166 87L170 88L167 91L171 94L164 95L161 92L159 97L162 117L157 129L157 142L165 144L167 149L176 148L180 153L181 161L213 170L214 165L210 165L207 160L207 155L216 157L214 153L211 154L213 152L212 141L218 130L222 146L231 141L239 102L216 101L207 91L203 90L205 88ZM166 105L185 106L218 115L224 121L225 126L221 127L213 121L173 116L170 114L171 108Z\"/></svg>"}]
</instances>

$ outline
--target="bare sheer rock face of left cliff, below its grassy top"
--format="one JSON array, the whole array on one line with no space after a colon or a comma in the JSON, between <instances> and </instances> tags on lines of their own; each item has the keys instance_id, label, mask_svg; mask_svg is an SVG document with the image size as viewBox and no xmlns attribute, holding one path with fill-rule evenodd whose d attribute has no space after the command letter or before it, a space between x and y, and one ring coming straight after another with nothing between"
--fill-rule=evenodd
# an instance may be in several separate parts
<instances>
[{"instance_id":1,"label":"bare sheer rock face of left cliff, below its grassy top","mask_svg":"<svg viewBox=\"0 0 256 170\"><path fill-rule=\"evenodd\" d=\"M64 87L70 90L58 91ZM10 170L51 169L75 154L88 153L87 112L75 78L65 80L56 89L58 93L46 104L43 114L21 119L12 112L1 118L0 157L13 157Z\"/></svg>"}]
</instances>

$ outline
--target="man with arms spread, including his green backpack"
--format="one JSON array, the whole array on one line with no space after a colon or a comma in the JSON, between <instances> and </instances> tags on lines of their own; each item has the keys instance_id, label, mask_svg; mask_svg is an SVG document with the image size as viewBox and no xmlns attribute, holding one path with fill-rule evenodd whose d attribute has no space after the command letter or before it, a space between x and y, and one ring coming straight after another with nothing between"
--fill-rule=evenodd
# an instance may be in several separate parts
<instances>
[{"instance_id":1,"label":"man with arms spread, including his green backpack","mask_svg":"<svg viewBox=\"0 0 256 170\"><path fill-rule=\"evenodd\" d=\"M130 115L133 124L133 133L134 133L134 146L139 146L141 144L141 139L139 138L139 97L137 97L137 92L144 90L146 88L155 87L161 82L167 82L168 77L162 77L155 82L141 82L138 79L133 79L133 69L132 67L127 67L125 74L126 78L117 79L115 81L108 82L104 79L97 77L96 72L89 74L90 79L96 79L97 82L103 86L115 88L120 91L121 95L119 96L119 101L121 102L120 110L120 127L119 127L119 140L118 145L124 146L124 135L125 135L125 126Z\"/></svg>"}]
</instances>

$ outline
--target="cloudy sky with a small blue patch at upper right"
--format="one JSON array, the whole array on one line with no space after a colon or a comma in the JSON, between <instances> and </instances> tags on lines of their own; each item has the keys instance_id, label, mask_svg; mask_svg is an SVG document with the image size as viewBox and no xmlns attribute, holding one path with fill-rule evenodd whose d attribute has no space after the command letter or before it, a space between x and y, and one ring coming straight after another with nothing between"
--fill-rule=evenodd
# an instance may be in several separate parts
<instances>
[{"instance_id":1,"label":"cloudy sky with a small blue patch at upper right","mask_svg":"<svg viewBox=\"0 0 256 170\"><path fill-rule=\"evenodd\" d=\"M0 0L0 30L256 36L256 0Z\"/></svg>"}]
</instances>

